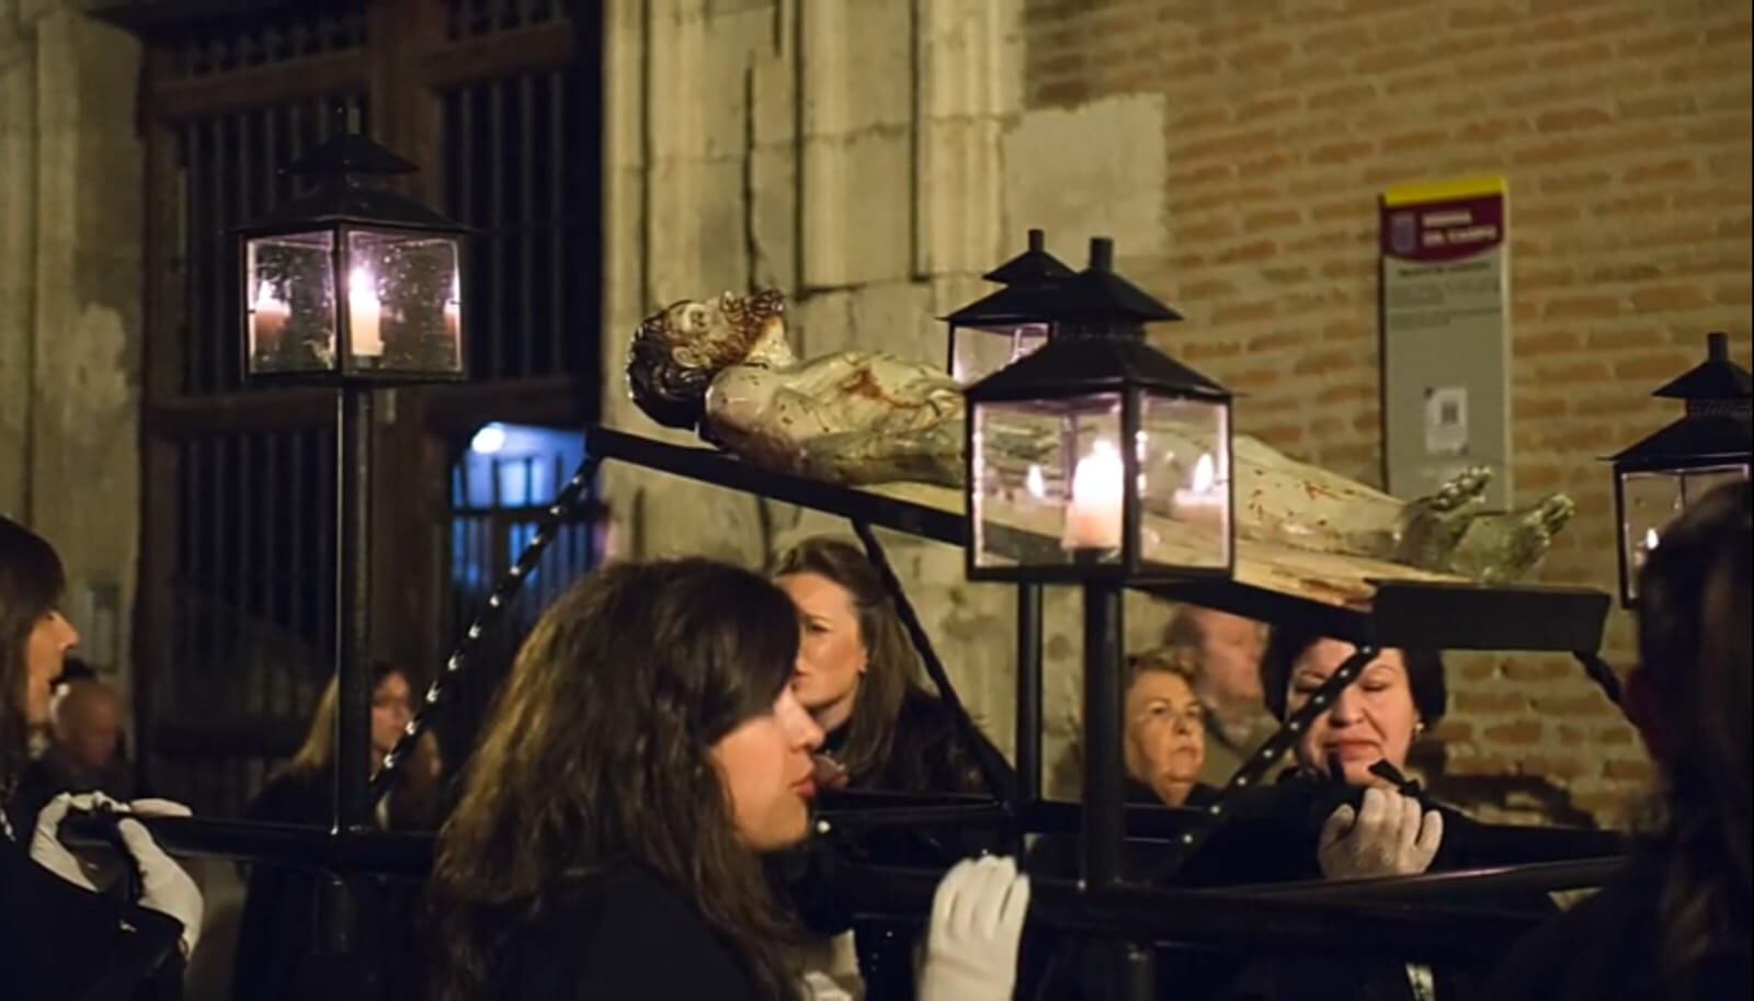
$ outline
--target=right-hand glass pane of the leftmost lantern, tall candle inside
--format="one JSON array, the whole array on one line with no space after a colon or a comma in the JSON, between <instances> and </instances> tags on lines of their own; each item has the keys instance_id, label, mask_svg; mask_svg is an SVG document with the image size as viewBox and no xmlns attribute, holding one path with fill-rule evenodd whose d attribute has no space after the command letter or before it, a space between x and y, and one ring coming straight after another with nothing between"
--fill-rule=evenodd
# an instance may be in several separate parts
<instances>
[{"instance_id":1,"label":"right-hand glass pane of the leftmost lantern, tall candle inside","mask_svg":"<svg viewBox=\"0 0 1754 1001\"><path fill-rule=\"evenodd\" d=\"M354 366L398 373L463 370L458 238L347 233L347 324Z\"/></svg>"}]
</instances>

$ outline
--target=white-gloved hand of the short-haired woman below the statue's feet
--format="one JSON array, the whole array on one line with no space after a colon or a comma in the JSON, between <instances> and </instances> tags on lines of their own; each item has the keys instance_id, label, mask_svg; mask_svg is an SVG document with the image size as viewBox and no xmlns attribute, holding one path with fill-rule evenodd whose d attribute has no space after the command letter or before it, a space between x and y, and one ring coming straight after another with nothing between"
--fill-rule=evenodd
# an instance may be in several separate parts
<instances>
[{"instance_id":1,"label":"white-gloved hand of the short-haired woman below the statue's feet","mask_svg":"<svg viewBox=\"0 0 1754 1001\"><path fill-rule=\"evenodd\" d=\"M1365 789L1365 803L1344 805L1321 827L1317 859L1330 880L1422 873L1444 843L1444 815L1412 796Z\"/></svg>"}]
</instances>

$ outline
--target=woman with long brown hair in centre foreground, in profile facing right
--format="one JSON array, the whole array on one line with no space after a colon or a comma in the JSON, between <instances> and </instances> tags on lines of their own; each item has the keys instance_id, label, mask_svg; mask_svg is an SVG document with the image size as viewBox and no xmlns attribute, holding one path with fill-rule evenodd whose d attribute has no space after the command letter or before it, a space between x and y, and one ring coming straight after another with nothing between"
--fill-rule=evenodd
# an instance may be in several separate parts
<instances>
[{"instance_id":1,"label":"woman with long brown hair in centre foreground, in profile facing right","mask_svg":"<svg viewBox=\"0 0 1754 1001\"><path fill-rule=\"evenodd\" d=\"M798 615L703 559L567 591L512 664L433 871L438 997L795 997L761 863L802 841L821 729Z\"/></svg>"}]
</instances>

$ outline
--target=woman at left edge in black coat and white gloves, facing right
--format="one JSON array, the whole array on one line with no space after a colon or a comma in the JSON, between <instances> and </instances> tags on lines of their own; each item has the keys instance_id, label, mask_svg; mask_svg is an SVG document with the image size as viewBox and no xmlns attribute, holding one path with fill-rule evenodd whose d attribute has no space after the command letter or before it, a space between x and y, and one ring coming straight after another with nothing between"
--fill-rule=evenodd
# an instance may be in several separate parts
<instances>
[{"instance_id":1,"label":"woman at left edge in black coat and white gloves, facing right","mask_svg":"<svg viewBox=\"0 0 1754 1001\"><path fill-rule=\"evenodd\" d=\"M67 575L54 549L0 517L0 794L23 768L30 728L49 715L49 682L79 633L61 615ZM39 815L26 854L0 812L0 985L5 997L181 997L182 959L200 933L193 880L139 822L119 833L142 878L139 905L100 896L84 866L58 840L72 808L91 796L56 796ZM105 808L128 812L118 803ZM144 808L144 805L142 805ZM181 948L179 948L181 943Z\"/></svg>"}]
</instances>

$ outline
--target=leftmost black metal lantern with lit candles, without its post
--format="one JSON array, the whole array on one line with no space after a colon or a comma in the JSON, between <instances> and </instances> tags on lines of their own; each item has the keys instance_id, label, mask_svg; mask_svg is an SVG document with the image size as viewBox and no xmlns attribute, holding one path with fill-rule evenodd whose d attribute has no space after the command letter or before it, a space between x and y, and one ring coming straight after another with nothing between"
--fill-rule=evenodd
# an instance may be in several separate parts
<instances>
[{"instance_id":1,"label":"leftmost black metal lantern with lit candles, without its post","mask_svg":"<svg viewBox=\"0 0 1754 1001\"><path fill-rule=\"evenodd\" d=\"M414 165L356 133L286 168L316 179L239 235L254 380L463 379L463 233L382 179Z\"/></svg>"}]
</instances>

